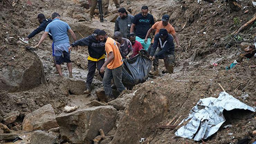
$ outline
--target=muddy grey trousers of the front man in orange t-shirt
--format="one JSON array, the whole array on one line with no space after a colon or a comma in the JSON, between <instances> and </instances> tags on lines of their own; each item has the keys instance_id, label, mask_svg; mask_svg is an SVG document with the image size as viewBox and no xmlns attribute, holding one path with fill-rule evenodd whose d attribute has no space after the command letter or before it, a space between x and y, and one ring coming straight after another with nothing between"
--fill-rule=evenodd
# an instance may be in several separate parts
<instances>
[{"instance_id":1,"label":"muddy grey trousers of the front man in orange t-shirt","mask_svg":"<svg viewBox=\"0 0 256 144\"><path fill-rule=\"evenodd\" d=\"M111 88L111 80L114 80L114 83L117 87L117 91L121 93L125 90L125 86L122 83L122 66L119 66L116 69L108 69L106 68L104 77L103 77L103 85L105 94L109 97L113 97L112 88Z\"/></svg>"}]
</instances>

